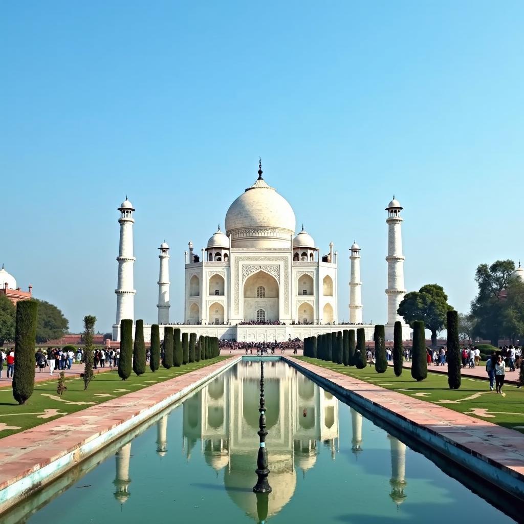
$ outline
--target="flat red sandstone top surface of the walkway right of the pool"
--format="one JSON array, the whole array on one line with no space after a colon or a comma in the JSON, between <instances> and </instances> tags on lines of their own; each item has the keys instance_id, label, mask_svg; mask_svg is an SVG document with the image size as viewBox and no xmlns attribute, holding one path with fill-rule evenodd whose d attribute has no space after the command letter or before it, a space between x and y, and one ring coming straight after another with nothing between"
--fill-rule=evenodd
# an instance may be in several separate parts
<instances>
[{"instance_id":1,"label":"flat red sandstone top surface of the walkway right of the pool","mask_svg":"<svg viewBox=\"0 0 524 524\"><path fill-rule=\"evenodd\" d=\"M474 419L445 407L407 397L335 371L294 358L290 361L309 369L340 387L364 397L412 424L436 433L444 440L472 453L484 455L503 468L524 475L524 434L492 422Z\"/></svg>"}]
</instances>

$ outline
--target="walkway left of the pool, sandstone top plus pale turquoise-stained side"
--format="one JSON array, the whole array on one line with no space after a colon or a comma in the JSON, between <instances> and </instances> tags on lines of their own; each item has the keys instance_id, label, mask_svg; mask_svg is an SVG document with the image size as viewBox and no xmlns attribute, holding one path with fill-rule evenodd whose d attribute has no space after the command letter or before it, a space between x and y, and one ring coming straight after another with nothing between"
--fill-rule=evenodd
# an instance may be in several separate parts
<instances>
[{"instance_id":1,"label":"walkway left of the pool, sandstone top plus pale turquoise-stained side","mask_svg":"<svg viewBox=\"0 0 524 524\"><path fill-rule=\"evenodd\" d=\"M0 514L240 360L233 356L0 439Z\"/></svg>"}]
</instances>

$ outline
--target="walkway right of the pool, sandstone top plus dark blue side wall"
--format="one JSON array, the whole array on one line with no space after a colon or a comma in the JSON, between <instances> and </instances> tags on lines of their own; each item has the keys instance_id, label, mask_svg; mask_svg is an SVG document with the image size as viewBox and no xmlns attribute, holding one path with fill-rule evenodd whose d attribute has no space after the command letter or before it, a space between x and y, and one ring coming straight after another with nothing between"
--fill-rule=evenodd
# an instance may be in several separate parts
<instances>
[{"instance_id":1,"label":"walkway right of the pool, sandstone top plus dark blue side wall","mask_svg":"<svg viewBox=\"0 0 524 524\"><path fill-rule=\"evenodd\" d=\"M341 398L377 415L498 488L524 499L524 435L320 366L283 357Z\"/></svg>"}]
</instances>

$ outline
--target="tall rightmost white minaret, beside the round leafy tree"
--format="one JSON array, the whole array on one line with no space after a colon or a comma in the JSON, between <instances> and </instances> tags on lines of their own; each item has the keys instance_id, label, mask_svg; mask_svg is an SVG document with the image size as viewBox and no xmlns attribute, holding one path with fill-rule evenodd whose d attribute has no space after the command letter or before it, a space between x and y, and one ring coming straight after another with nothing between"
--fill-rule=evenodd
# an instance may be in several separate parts
<instances>
[{"instance_id":1,"label":"tall rightmost white minaret, beside the round leafy tree","mask_svg":"<svg viewBox=\"0 0 524 524\"><path fill-rule=\"evenodd\" d=\"M388 217L386 223L388 225L388 256L386 257L388 263L388 288L386 294L388 297L388 323L386 324L387 339L393 338L393 330L396 321L404 321L397 313L398 307L406 290L404 289L404 256L402 255L402 217L400 211L402 206L398 200L389 202L386 208Z\"/></svg>"}]
</instances>

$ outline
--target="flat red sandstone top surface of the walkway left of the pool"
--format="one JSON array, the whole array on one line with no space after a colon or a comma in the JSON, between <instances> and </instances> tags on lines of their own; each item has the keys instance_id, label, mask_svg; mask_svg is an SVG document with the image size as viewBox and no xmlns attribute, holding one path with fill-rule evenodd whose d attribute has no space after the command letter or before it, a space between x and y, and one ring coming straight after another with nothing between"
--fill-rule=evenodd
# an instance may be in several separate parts
<instances>
[{"instance_id":1,"label":"flat red sandstone top surface of the walkway left of the pool","mask_svg":"<svg viewBox=\"0 0 524 524\"><path fill-rule=\"evenodd\" d=\"M0 439L0 489L77 450L228 363L230 359Z\"/></svg>"}]
</instances>

